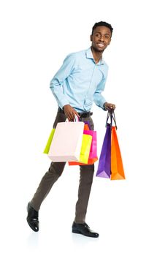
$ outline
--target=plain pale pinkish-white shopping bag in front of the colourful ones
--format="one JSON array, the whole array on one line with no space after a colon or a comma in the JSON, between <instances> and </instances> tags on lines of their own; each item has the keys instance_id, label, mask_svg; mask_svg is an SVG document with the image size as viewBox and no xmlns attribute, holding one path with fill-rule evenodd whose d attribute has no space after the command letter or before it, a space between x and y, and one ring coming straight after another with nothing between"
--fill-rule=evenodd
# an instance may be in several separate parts
<instances>
[{"instance_id":1,"label":"plain pale pinkish-white shopping bag in front of the colourful ones","mask_svg":"<svg viewBox=\"0 0 165 256\"><path fill-rule=\"evenodd\" d=\"M53 162L79 161L84 122L61 122L55 128L48 157Z\"/></svg>"}]
</instances>

